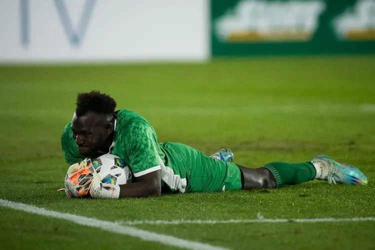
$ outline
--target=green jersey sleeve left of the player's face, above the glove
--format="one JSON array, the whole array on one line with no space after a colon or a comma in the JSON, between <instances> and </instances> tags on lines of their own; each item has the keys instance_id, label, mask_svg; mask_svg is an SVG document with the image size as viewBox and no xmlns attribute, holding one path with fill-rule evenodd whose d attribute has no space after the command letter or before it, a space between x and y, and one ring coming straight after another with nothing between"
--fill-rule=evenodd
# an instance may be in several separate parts
<instances>
[{"instance_id":1,"label":"green jersey sleeve left of the player's face, above the glove","mask_svg":"<svg viewBox=\"0 0 375 250\"><path fill-rule=\"evenodd\" d=\"M81 162L84 157L80 156L78 148L71 137L71 127L70 122L66 124L61 135L61 147L62 153L64 154L65 162L69 165L75 162Z\"/></svg>"}]
</instances>

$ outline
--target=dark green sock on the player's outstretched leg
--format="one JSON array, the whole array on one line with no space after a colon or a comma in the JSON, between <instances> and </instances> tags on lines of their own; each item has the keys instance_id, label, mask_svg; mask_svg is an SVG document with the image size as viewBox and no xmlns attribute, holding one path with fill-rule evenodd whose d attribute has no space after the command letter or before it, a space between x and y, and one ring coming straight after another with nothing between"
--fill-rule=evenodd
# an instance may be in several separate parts
<instances>
[{"instance_id":1,"label":"dark green sock on the player's outstretched leg","mask_svg":"<svg viewBox=\"0 0 375 250\"><path fill-rule=\"evenodd\" d=\"M303 163L275 161L267 163L263 167L271 171L277 186L299 184L312 180L316 175L315 167L309 161Z\"/></svg>"}]
</instances>

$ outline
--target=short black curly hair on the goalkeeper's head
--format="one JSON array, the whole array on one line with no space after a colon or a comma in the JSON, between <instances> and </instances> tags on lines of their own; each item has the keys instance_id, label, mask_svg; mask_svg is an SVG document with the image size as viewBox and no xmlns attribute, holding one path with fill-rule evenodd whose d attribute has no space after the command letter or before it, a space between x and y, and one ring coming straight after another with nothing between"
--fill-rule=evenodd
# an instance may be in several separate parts
<instances>
[{"instance_id":1,"label":"short black curly hair on the goalkeeper's head","mask_svg":"<svg viewBox=\"0 0 375 250\"><path fill-rule=\"evenodd\" d=\"M99 90L78 93L76 104L75 114L77 116L84 115L88 111L100 114L113 114L117 105L112 97L108 94L100 93Z\"/></svg>"}]
</instances>

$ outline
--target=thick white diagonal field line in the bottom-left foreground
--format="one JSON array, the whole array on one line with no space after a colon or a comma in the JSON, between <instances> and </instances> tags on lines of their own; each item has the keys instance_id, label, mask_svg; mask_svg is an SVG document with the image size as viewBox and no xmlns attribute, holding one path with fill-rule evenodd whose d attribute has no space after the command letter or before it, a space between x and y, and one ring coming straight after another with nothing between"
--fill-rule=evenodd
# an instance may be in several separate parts
<instances>
[{"instance_id":1,"label":"thick white diagonal field line in the bottom-left foreground","mask_svg":"<svg viewBox=\"0 0 375 250\"><path fill-rule=\"evenodd\" d=\"M129 235L132 237L140 238L147 241L155 241L165 245L171 245L175 247L187 248L187 249L202 249L202 250L225 250L227 248L213 246L206 243L190 241L186 239L181 239L165 234L150 232L146 230L137 229L130 226L120 225L116 222L105 221L96 218L89 218L85 216L70 214L70 213L61 213L53 210L47 210L44 208L39 208L32 205L27 205L24 203L18 203L9 201L6 199L0 199L0 206L9 207L15 210L21 210L29 213L35 213L47 217L59 218L71 221L76 224L97 227L102 230L107 230L111 232L116 232L120 234Z\"/></svg>"}]
</instances>

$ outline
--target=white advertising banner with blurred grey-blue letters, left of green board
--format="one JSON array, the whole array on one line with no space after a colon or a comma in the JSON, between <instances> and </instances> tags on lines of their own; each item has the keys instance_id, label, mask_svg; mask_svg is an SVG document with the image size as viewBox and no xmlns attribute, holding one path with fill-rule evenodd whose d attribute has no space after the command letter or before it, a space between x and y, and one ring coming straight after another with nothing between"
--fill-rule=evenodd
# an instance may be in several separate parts
<instances>
[{"instance_id":1,"label":"white advertising banner with blurred grey-blue letters, left of green board","mask_svg":"<svg viewBox=\"0 0 375 250\"><path fill-rule=\"evenodd\" d=\"M207 0L0 0L0 62L209 56Z\"/></svg>"}]
</instances>

